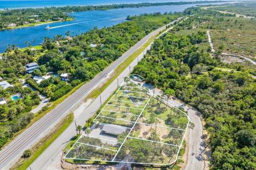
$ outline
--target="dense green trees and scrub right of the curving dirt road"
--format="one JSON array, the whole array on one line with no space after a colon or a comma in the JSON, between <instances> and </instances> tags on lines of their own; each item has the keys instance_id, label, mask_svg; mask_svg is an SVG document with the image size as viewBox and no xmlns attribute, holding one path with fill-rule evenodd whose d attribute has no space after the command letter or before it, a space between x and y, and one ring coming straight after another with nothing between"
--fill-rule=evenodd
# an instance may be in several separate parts
<instances>
[{"instance_id":1,"label":"dense green trees and scrub right of the curving dirt road","mask_svg":"<svg viewBox=\"0 0 256 170\"><path fill-rule=\"evenodd\" d=\"M233 23L243 20L238 27L250 27L252 30L253 21L247 19L248 22L245 22L245 19L234 16L201 11L198 7L185 11L195 15L157 39L133 73L141 75L147 83L163 91L173 89L175 96L203 113L208 132L206 144L212 151L212 169L255 169L256 81L249 74L249 71L255 72L255 67L223 63L220 53L210 54L210 45L205 48L205 28L209 28L209 25L218 22L212 30L219 31L231 20ZM243 38L253 38L247 36L243 35ZM228 42L225 40L223 44ZM249 44L247 49L245 52L251 49ZM224 65L239 71L215 69Z\"/></svg>"}]
</instances>

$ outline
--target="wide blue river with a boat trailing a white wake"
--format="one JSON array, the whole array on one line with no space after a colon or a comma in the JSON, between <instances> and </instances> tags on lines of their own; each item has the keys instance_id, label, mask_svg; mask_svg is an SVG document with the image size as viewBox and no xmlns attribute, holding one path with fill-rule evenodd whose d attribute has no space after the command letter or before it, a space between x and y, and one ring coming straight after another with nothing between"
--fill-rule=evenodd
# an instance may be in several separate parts
<instances>
[{"instance_id":1,"label":"wide blue river with a boat trailing a white wake","mask_svg":"<svg viewBox=\"0 0 256 170\"><path fill-rule=\"evenodd\" d=\"M97 0L100 2L99 0ZM114 0L116 2L123 2ZM133 2L138 0L132 0ZM143 0L144 1L144 0ZM145 0L148 1L148 0ZM160 0L151 0L160 1ZM16 1L15 1L16 2ZM23 2L23 1L22 1ZM32 1L35 2L35 1ZM48 1L46 1L48 2ZM66 1L61 1L66 2ZM92 1L86 1L92 2ZM102 2L102 1L101 1ZM2 3L2 1L0 1ZM113 2L111 2L113 3ZM212 3L222 4L222 3ZM26 47L25 42L30 41L32 46L42 43L44 37L54 37L56 35L63 35L67 31L70 31L71 36L81 34L81 32L89 31L94 28L94 25L98 28L110 27L118 23L125 22L127 15L139 15L141 13L154 13L154 12L181 12L187 7L195 6L199 4L187 4L187 5L165 5L165 6L150 6L140 8L119 8L115 10L107 11L86 11L77 12L71 14L75 17L74 21L67 22L56 22L50 23L49 26L53 29L45 30L47 24L37 25L34 27L20 28L20 29L9 29L0 31L0 53L3 53L7 45L17 45L19 48ZM204 4L206 5L206 4ZM33 43L33 40L36 43Z\"/></svg>"}]
</instances>

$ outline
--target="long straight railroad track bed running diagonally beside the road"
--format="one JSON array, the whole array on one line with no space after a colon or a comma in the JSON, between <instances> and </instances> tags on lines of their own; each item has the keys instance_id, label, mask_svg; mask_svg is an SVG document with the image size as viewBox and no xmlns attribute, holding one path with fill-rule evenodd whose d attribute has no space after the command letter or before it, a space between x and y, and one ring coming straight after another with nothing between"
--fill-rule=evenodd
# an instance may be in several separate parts
<instances>
[{"instance_id":1,"label":"long straight railroad track bed running diagonally beside the road","mask_svg":"<svg viewBox=\"0 0 256 170\"><path fill-rule=\"evenodd\" d=\"M172 22L173 23L173 22ZM143 37L137 44L132 46L127 52L125 52L121 57L119 57L116 61L111 63L106 69L104 69L101 73L97 74L91 81L84 84L81 88L76 90L74 94L70 95L66 100L64 100L61 104L55 107L51 112L47 113L41 120L32 125L28 130L19 135L19 137L13 142L11 142L8 146L6 146L3 150L0 151L0 167L5 161L14 155L14 153L24 147L25 143L31 142L30 139L38 136L40 131L42 131L46 126L50 126L51 122L55 120L55 118L59 118L65 113L69 111L79 100L86 96L86 92L90 91L95 87L105 75L109 74L111 71L116 69L118 65L123 63L126 58L128 58L135 50L139 49L146 41L155 33L165 29L161 27L151 33L149 35Z\"/></svg>"}]
</instances>

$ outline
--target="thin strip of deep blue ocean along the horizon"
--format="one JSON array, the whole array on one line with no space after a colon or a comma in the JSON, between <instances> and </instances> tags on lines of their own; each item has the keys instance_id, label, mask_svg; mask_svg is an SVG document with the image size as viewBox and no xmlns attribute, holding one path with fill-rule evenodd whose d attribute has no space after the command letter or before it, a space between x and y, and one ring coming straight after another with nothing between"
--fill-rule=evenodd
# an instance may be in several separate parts
<instances>
[{"instance_id":1,"label":"thin strip of deep blue ocean along the horizon","mask_svg":"<svg viewBox=\"0 0 256 170\"><path fill-rule=\"evenodd\" d=\"M180 2L181 0L45 0L45 1L2 1L0 0L0 10L4 8L36 8L50 6L84 6L84 5L108 5L108 4L127 4L127 3L142 3L142 2ZM194 1L194 0L182 0ZM197 0L200 1L200 0ZM208 0L214 1L214 0Z\"/></svg>"}]
</instances>

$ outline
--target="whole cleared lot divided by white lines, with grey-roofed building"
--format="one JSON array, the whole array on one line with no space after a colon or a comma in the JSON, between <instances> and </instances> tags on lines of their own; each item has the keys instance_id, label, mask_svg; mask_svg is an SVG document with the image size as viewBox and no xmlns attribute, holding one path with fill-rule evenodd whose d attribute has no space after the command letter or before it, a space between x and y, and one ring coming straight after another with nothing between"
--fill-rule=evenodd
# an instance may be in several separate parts
<instances>
[{"instance_id":1,"label":"whole cleared lot divided by white lines, with grey-roofed building","mask_svg":"<svg viewBox=\"0 0 256 170\"><path fill-rule=\"evenodd\" d=\"M172 164L189 123L186 113L130 80L115 92L93 122L88 136L79 138L66 154L68 161ZM94 148L90 151L87 146Z\"/></svg>"}]
</instances>

